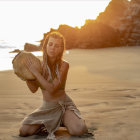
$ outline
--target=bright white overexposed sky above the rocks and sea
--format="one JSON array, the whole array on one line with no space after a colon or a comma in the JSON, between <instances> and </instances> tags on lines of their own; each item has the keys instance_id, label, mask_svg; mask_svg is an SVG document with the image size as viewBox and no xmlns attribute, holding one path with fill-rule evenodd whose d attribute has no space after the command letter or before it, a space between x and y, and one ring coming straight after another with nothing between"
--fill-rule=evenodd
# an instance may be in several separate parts
<instances>
[{"instance_id":1,"label":"bright white overexposed sky above the rocks and sea","mask_svg":"<svg viewBox=\"0 0 140 140\"><path fill-rule=\"evenodd\" d=\"M0 0L0 40L32 42L60 24L84 25L110 0Z\"/></svg>"}]
</instances>

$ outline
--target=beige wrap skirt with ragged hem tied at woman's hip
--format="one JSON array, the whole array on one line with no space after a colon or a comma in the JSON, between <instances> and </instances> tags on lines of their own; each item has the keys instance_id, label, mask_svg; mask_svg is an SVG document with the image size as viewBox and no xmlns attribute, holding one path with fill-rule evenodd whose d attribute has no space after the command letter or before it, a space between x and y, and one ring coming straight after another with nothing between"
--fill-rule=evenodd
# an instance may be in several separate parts
<instances>
[{"instance_id":1,"label":"beige wrap skirt with ragged hem tied at woman's hip","mask_svg":"<svg viewBox=\"0 0 140 140\"><path fill-rule=\"evenodd\" d=\"M22 124L44 124L49 133L47 140L54 140L54 132L60 127L63 114L67 109L73 110L81 118L79 110L70 97L66 95L65 99L58 102L46 102L43 100L41 107L25 117Z\"/></svg>"}]
</instances>

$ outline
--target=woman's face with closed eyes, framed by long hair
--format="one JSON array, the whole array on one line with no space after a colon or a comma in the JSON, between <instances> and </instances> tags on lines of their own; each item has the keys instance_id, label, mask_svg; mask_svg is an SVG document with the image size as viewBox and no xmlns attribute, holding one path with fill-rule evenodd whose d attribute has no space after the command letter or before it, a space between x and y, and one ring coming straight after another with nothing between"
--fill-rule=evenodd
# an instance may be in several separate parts
<instances>
[{"instance_id":1,"label":"woman's face with closed eyes, framed by long hair","mask_svg":"<svg viewBox=\"0 0 140 140\"><path fill-rule=\"evenodd\" d=\"M62 44L60 39L49 37L47 44L47 55L49 58L57 58L62 51Z\"/></svg>"}]
</instances>

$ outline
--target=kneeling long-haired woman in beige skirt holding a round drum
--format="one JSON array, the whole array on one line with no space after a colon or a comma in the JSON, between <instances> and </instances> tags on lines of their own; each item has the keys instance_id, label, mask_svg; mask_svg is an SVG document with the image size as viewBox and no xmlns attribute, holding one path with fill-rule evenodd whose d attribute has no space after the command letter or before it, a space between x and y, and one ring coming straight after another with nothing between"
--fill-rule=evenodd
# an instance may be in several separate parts
<instances>
[{"instance_id":1,"label":"kneeling long-haired woman in beige skirt holding a round drum","mask_svg":"<svg viewBox=\"0 0 140 140\"><path fill-rule=\"evenodd\" d=\"M48 139L54 139L54 132L62 124L71 135L82 135L87 132L84 120L73 101L65 93L65 83L69 69L68 62L62 60L65 41L58 32L47 35L43 44L42 74L34 67L30 59L26 65L36 77L35 81L26 81L34 93L41 88L42 106L25 117L19 130L20 136L29 136L44 125L49 133Z\"/></svg>"}]
</instances>

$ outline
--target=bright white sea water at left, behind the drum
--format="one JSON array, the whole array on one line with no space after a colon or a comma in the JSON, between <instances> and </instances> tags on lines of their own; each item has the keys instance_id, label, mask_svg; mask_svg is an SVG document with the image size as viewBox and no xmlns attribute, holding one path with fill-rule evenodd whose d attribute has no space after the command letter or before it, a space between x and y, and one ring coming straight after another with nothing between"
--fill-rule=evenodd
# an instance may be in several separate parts
<instances>
[{"instance_id":1,"label":"bright white sea water at left, behind the drum","mask_svg":"<svg viewBox=\"0 0 140 140\"><path fill-rule=\"evenodd\" d=\"M35 45L39 45L39 42L29 42ZM5 40L0 40L0 71L3 70L12 70L12 60L17 55L17 53L10 53L15 49L24 50L24 44L22 43L15 43ZM32 52L35 56L41 56L42 52Z\"/></svg>"}]
</instances>

